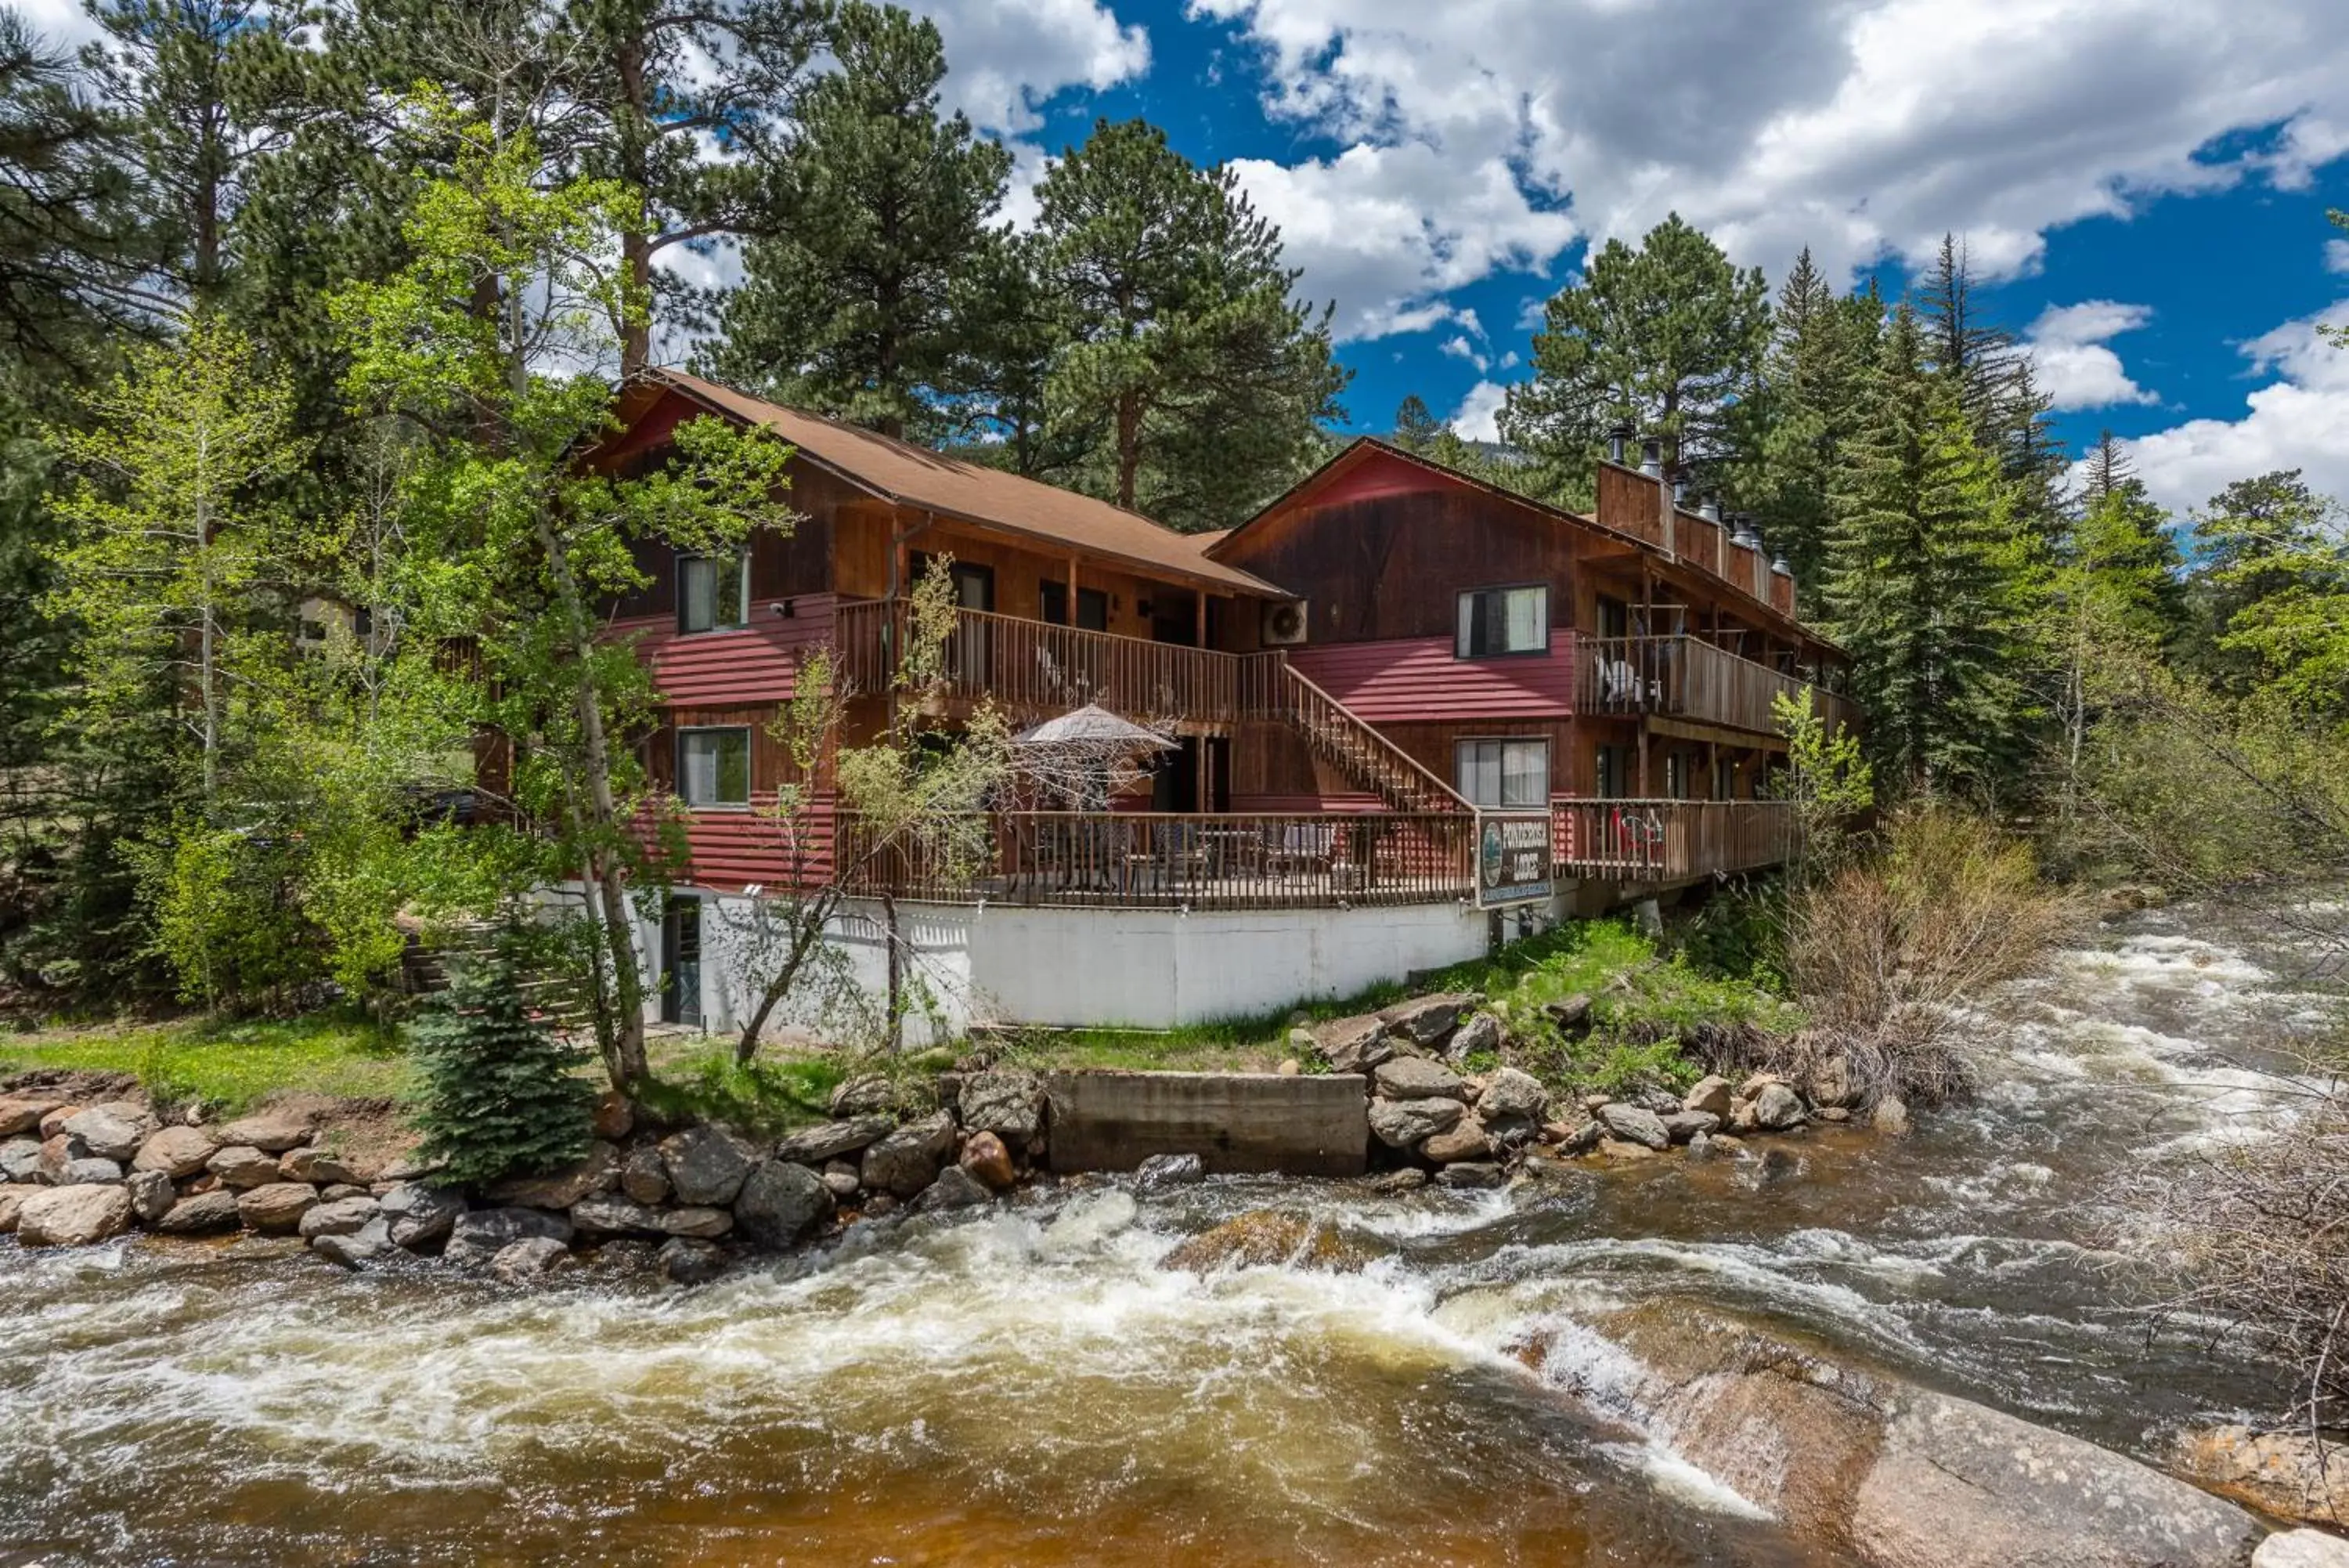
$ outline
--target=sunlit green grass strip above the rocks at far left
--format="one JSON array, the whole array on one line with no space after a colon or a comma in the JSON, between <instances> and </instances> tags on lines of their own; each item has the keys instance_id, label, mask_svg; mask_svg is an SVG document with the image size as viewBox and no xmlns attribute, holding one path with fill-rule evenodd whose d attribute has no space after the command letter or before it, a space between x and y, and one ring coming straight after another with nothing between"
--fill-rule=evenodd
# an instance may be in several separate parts
<instances>
[{"instance_id":1,"label":"sunlit green grass strip above the rocks at far left","mask_svg":"<svg viewBox=\"0 0 2349 1568\"><path fill-rule=\"evenodd\" d=\"M397 1030L357 1013L303 1018L174 1018L0 1034L0 1077L33 1067L132 1072L162 1100L226 1114L272 1088L350 1098L413 1098Z\"/></svg>"}]
</instances>

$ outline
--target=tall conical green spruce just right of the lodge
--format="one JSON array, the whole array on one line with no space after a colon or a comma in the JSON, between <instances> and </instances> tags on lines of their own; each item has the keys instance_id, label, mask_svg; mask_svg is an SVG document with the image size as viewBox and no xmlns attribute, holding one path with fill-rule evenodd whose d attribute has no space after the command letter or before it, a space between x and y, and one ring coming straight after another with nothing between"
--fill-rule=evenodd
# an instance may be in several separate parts
<instances>
[{"instance_id":1,"label":"tall conical green spruce just right of the lodge","mask_svg":"<svg viewBox=\"0 0 2349 1568\"><path fill-rule=\"evenodd\" d=\"M1957 386L1893 313L1835 491L1832 630L1856 661L1879 771L1907 788L1999 788L2027 743L2032 559Z\"/></svg>"}]
</instances>

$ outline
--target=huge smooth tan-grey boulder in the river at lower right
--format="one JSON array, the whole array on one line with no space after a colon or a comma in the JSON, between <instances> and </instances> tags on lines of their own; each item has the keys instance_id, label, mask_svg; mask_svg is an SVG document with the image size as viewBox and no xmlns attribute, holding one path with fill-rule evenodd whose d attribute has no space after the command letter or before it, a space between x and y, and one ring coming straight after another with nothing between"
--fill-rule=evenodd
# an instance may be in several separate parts
<instances>
[{"instance_id":1,"label":"huge smooth tan-grey boulder in the river at lower right","mask_svg":"<svg viewBox=\"0 0 2349 1568\"><path fill-rule=\"evenodd\" d=\"M2260 1533L2185 1481L1792 1331L1687 1300L1597 1328L1635 1359L1609 1403L1870 1568L2234 1568Z\"/></svg>"}]
</instances>

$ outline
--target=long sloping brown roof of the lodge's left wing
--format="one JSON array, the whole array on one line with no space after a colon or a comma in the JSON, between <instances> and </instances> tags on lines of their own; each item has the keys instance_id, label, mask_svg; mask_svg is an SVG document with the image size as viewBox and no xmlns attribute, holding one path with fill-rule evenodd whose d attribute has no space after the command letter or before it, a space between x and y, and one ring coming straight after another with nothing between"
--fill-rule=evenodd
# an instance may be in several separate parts
<instances>
[{"instance_id":1,"label":"long sloping brown roof of the lodge's left wing","mask_svg":"<svg viewBox=\"0 0 2349 1568\"><path fill-rule=\"evenodd\" d=\"M1081 496L1073 489L1022 480L1001 468L965 463L928 447L897 442L857 425L792 409L738 393L702 376L677 369L646 371L648 381L677 388L695 402L766 425L803 456L822 463L883 501L940 517L977 522L1005 534L1024 534L1064 550L1125 562L1139 571L1184 583L1205 583L1226 592L1266 599L1290 597L1259 576L1200 555L1205 538L1177 534L1120 505Z\"/></svg>"}]
</instances>

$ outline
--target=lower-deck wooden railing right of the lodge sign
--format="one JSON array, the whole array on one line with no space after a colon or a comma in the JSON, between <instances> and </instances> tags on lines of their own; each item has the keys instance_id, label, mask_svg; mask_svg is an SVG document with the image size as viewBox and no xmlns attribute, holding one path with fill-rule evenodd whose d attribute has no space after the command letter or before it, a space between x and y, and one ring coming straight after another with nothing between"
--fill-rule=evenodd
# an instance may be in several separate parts
<instances>
[{"instance_id":1,"label":"lower-deck wooden railing right of the lodge sign","mask_svg":"<svg viewBox=\"0 0 2349 1568\"><path fill-rule=\"evenodd\" d=\"M1562 799L1550 851L1564 877L1687 882L1781 865L1795 853L1783 799Z\"/></svg>"}]
</instances>

